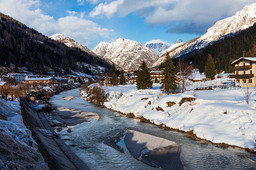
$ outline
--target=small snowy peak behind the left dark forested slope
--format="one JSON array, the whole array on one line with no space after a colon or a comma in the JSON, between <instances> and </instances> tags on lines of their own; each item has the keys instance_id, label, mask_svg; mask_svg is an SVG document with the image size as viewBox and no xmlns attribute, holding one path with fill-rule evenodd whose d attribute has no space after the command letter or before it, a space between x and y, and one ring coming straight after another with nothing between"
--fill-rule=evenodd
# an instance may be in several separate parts
<instances>
[{"instance_id":1,"label":"small snowy peak behind the left dark forested slope","mask_svg":"<svg viewBox=\"0 0 256 170\"><path fill-rule=\"evenodd\" d=\"M53 34L52 36L49 37L52 40L55 41L60 41L63 42L66 46L68 47L76 47L76 48L80 48L81 50L88 52L92 55L95 55L91 50L89 50L87 47L85 47L84 45L79 44L78 42L72 40L71 38L68 38L62 34Z\"/></svg>"}]
</instances>

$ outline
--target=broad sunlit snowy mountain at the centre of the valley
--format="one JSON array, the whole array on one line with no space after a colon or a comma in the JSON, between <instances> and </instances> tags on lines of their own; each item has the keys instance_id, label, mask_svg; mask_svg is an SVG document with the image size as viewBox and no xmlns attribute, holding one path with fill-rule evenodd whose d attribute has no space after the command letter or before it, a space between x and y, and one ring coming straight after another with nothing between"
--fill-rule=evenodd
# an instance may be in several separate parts
<instances>
[{"instance_id":1,"label":"broad sunlit snowy mountain at the centre of the valley","mask_svg":"<svg viewBox=\"0 0 256 170\"><path fill-rule=\"evenodd\" d=\"M112 43L100 42L93 50L95 54L102 58L109 59L117 67L137 70L142 60L145 60L148 67L159 58L159 56L149 48L137 41L118 38Z\"/></svg>"}]
</instances>

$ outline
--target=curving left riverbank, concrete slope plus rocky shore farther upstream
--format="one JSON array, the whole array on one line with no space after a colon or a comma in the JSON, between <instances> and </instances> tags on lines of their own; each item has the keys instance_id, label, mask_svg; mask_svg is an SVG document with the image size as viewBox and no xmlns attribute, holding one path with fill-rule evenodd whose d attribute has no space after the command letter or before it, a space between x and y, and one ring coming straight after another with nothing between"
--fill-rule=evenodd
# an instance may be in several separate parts
<instances>
[{"instance_id":1,"label":"curving left riverbank, concrete slope plus rocky shore farther upstream","mask_svg":"<svg viewBox=\"0 0 256 170\"><path fill-rule=\"evenodd\" d=\"M29 93L22 100L23 115L26 117L26 124L36 135L43 150L43 156L53 159L53 163L58 166L56 169L89 169L84 162L63 142L57 135L49 122L45 119L48 112L52 111L49 98L63 91L79 88L81 85L60 85L40 89ZM42 153L43 154L43 153ZM55 169L52 166L51 169Z\"/></svg>"}]
</instances>

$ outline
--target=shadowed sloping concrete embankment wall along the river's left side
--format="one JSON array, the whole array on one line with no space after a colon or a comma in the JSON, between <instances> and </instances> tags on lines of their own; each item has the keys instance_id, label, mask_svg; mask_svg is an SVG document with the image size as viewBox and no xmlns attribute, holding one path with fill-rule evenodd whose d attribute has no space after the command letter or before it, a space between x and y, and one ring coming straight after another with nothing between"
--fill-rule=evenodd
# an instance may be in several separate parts
<instances>
[{"instance_id":1,"label":"shadowed sloping concrete embankment wall along the river's left side","mask_svg":"<svg viewBox=\"0 0 256 170\"><path fill-rule=\"evenodd\" d=\"M44 115L33 110L26 99L22 101L24 113L31 128L60 169L89 169L84 162L58 137Z\"/></svg>"}]
</instances>

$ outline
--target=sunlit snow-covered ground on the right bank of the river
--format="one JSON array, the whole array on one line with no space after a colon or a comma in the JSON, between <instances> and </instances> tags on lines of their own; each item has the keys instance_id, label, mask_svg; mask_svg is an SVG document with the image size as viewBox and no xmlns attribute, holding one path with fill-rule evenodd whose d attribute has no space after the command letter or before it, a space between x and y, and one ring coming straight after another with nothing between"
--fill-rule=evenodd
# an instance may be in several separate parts
<instances>
[{"instance_id":1,"label":"sunlit snow-covered ground on the right bank of the river","mask_svg":"<svg viewBox=\"0 0 256 170\"><path fill-rule=\"evenodd\" d=\"M197 137L213 143L249 149L255 147L256 95L252 94L247 104L241 89L163 95L159 87L160 84L154 84L152 89L146 90L137 90L136 85L108 87L109 97L104 105L126 114L132 112L135 116L143 116L158 125L163 123L174 129L193 130ZM123 95L118 98L121 91ZM180 100L194 97L194 92L196 100L180 106ZM167 107L167 102L170 101L175 104ZM164 111L157 111L156 107L161 107Z\"/></svg>"}]
</instances>

